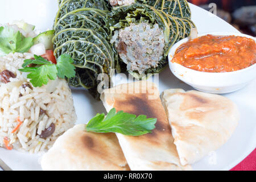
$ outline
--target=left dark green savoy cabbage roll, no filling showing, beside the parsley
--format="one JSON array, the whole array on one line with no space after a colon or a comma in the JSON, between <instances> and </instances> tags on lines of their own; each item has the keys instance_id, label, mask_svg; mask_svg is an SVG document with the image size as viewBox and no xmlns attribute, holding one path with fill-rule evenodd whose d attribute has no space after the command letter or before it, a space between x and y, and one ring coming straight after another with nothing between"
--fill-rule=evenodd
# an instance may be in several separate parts
<instances>
[{"instance_id":1,"label":"left dark green savoy cabbage roll, no filling showing, beside the parsley","mask_svg":"<svg viewBox=\"0 0 256 182\"><path fill-rule=\"evenodd\" d=\"M54 55L57 59L67 53L74 60L76 76L68 79L69 85L89 89L99 98L97 87L105 80L98 76L105 73L110 84L112 69L119 71L117 53L109 43L108 2L64 0L59 1L59 9L53 25Z\"/></svg>"}]
</instances>

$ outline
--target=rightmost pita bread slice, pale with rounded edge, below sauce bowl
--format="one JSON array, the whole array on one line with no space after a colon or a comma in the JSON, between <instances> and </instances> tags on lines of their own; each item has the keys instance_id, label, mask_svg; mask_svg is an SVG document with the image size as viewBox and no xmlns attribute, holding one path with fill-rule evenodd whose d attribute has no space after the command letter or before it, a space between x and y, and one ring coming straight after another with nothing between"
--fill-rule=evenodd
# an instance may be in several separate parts
<instances>
[{"instance_id":1,"label":"rightmost pita bread slice, pale with rounded edge, below sauce bowl","mask_svg":"<svg viewBox=\"0 0 256 182\"><path fill-rule=\"evenodd\" d=\"M195 90L162 93L181 164L192 164L217 150L232 135L240 118L228 98Z\"/></svg>"}]
</instances>

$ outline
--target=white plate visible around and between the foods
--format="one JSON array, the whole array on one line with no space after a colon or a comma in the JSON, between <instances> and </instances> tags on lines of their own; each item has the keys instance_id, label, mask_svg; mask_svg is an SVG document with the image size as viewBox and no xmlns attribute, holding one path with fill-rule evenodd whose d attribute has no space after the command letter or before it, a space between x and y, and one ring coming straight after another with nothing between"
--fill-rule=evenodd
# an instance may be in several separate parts
<instances>
[{"instance_id":1,"label":"white plate visible around and between the foods","mask_svg":"<svg viewBox=\"0 0 256 182\"><path fill-rule=\"evenodd\" d=\"M199 34L205 32L238 32L224 20L213 14L190 5L192 20L195 22ZM16 19L24 19L35 24L36 29L45 31L51 29L53 19L57 12L57 1L53 0L0 0L0 23L13 22ZM159 90L183 88L191 90L191 86L179 81L166 68L159 75ZM224 146L209 156L192 165L194 170L229 170L240 163L256 146L256 80L245 88L224 96L234 101L241 112L239 125ZM77 123L86 123L97 113L106 113L100 101L95 101L86 90L72 90L75 102ZM7 151L0 148L0 158L14 170L40 170L38 160L40 156Z\"/></svg>"}]
</instances>

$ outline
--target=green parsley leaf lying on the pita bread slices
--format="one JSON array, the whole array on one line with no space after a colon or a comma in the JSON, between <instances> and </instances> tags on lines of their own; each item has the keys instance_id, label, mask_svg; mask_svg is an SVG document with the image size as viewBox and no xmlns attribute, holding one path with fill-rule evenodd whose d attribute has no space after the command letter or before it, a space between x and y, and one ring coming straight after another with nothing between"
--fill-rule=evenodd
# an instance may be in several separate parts
<instances>
[{"instance_id":1,"label":"green parsley leaf lying on the pita bread slices","mask_svg":"<svg viewBox=\"0 0 256 182\"><path fill-rule=\"evenodd\" d=\"M124 113L115 108L105 114L97 114L86 125L86 131L96 133L121 133L123 135L139 136L151 133L155 129L155 118L147 118L146 115Z\"/></svg>"}]
</instances>

